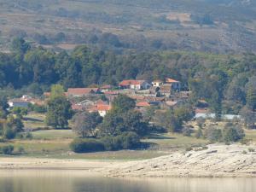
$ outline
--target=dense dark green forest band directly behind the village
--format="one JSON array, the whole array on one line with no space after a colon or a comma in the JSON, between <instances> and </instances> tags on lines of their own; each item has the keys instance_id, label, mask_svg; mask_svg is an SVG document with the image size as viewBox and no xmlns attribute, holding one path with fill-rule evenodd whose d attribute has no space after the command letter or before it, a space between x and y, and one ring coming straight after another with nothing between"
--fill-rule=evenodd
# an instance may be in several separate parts
<instances>
[{"instance_id":1,"label":"dense dark green forest band directly behind the village","mask_svg":"<svg viewBox=\"0 0 256 192\"><path fill-rule=\"evenodd\" d=\"M256 55L209 55L187 52L130 52L115 55L101 49L79 46L71 54L32 47L22 38L12 44L13 52L0 54L2 94L23 90L42 95L51 84L70 87L118 84L122 79L165 79L171 77L192 90L196 99L206 99L214 110L239 113L255 100ZM10 90L10 91L7 91ZM216 105L218 103L218 105ZM251 107L255 109L255 104ZM222 108L222 109L221 109Z\"/></svg>"}]
</instances>

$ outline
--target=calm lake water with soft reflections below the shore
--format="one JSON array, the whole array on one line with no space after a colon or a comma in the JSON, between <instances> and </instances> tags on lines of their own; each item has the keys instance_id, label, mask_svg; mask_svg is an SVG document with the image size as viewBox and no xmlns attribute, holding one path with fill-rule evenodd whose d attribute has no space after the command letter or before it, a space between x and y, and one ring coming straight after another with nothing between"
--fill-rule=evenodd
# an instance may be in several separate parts
<instances>
[{"instance_id":1,"label":"calm lake water with soft reflections below the shore","mask_svg":"<svg viewBox=\"0 0 256 192\"><path fill-rule=\"evenodd\" d=\"M166 191L255 192L256 178L108 178L86 171L0 171L0 192Z\"/></svg>"}]
</instances>

